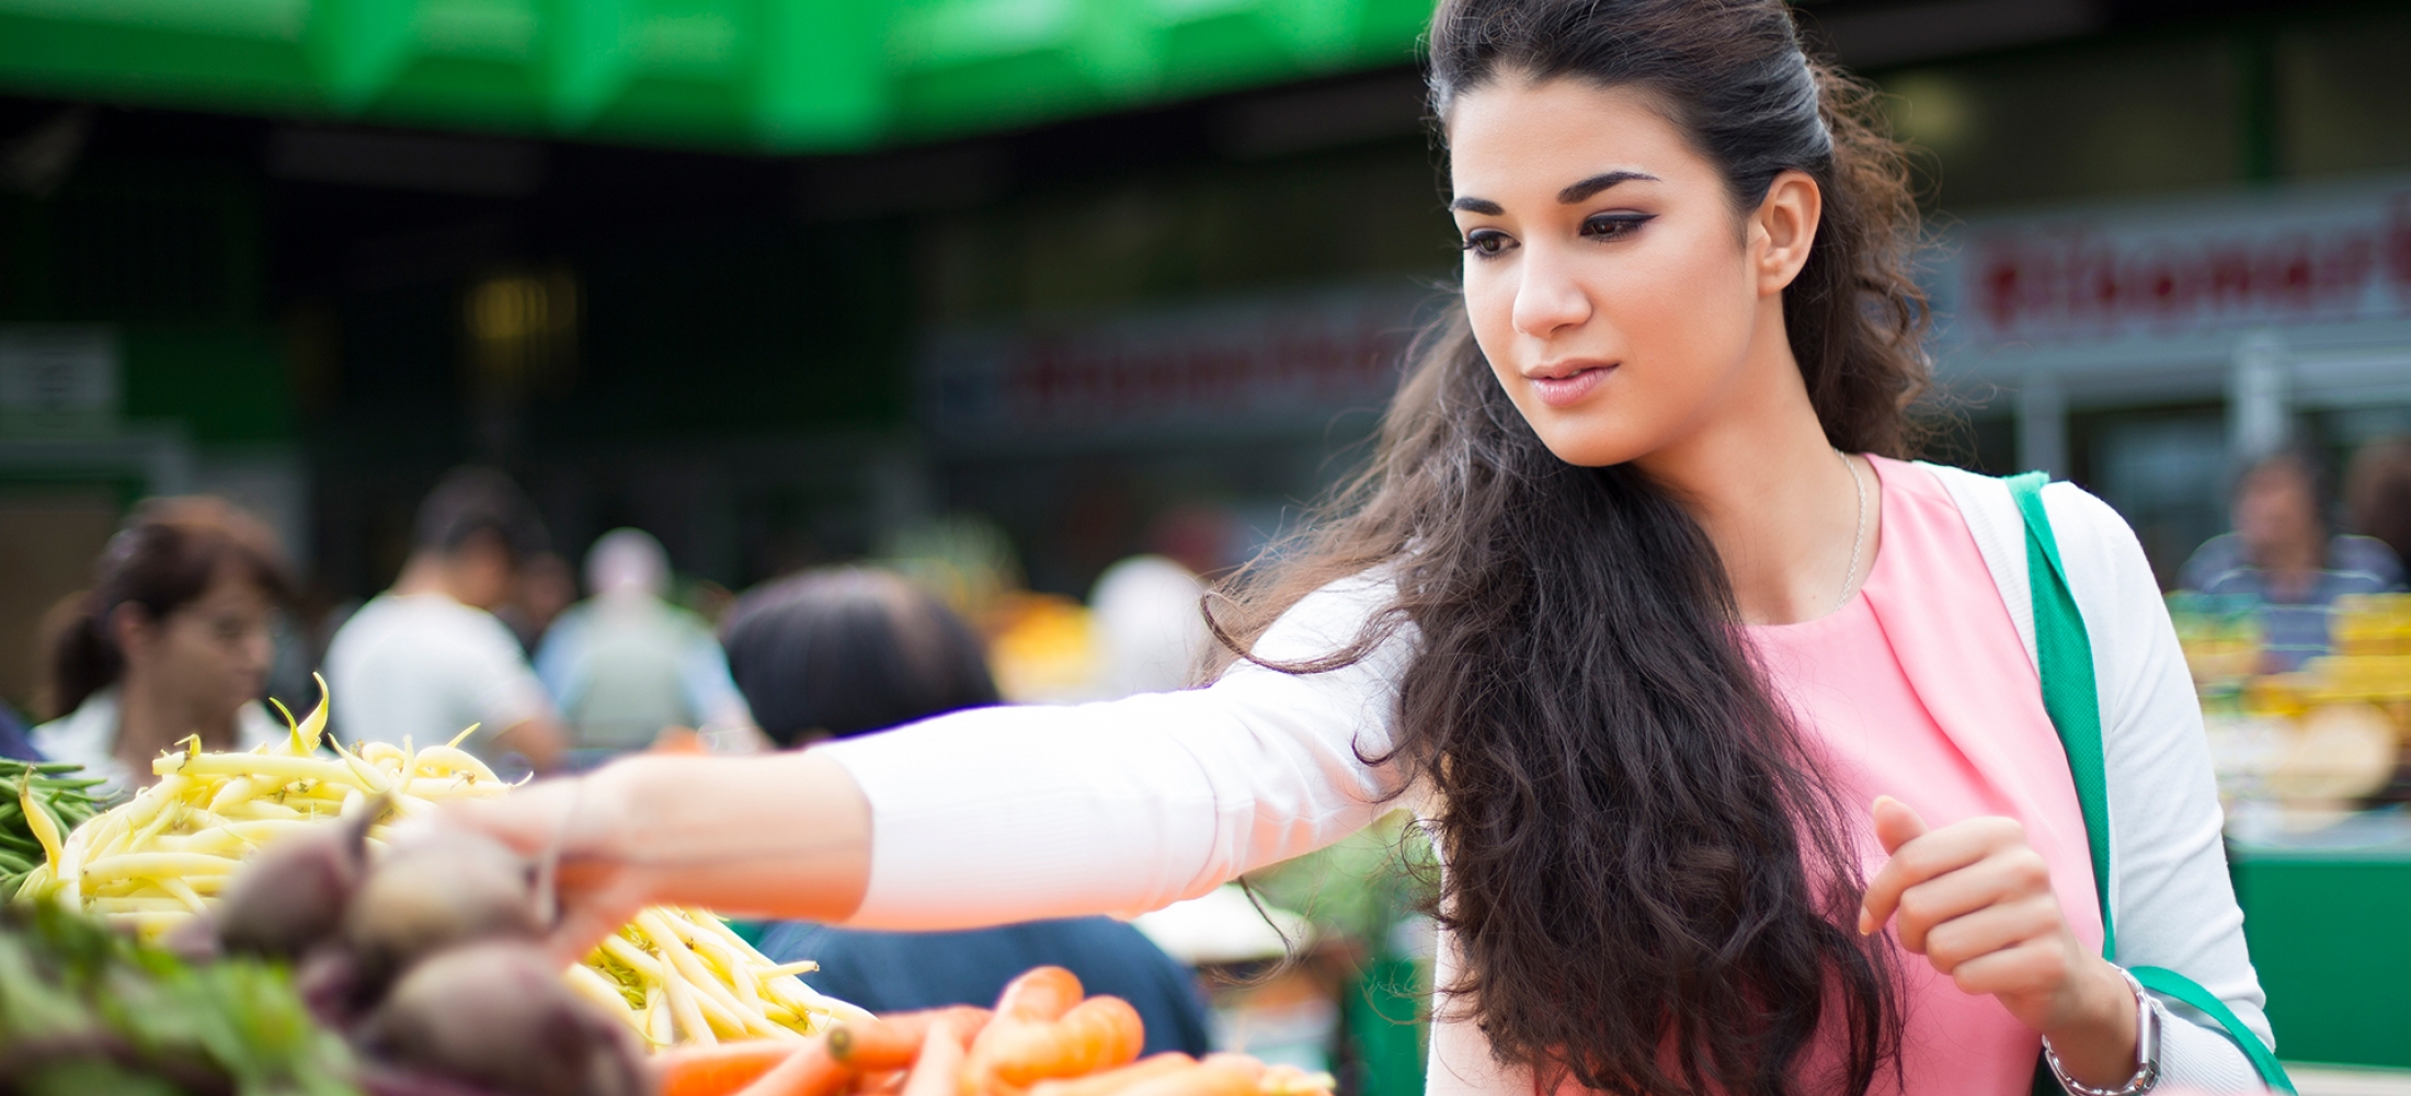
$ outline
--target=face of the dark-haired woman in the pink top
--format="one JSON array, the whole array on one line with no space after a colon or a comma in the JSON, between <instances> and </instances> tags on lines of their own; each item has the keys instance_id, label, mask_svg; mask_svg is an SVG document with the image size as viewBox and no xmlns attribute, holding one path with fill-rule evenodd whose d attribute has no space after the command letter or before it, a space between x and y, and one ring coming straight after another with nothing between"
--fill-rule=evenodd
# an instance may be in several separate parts
<instances>
[{"instance_id":1,"label":"face of the dark-haired woman in the pink top","mask_svg":"<svg viewBox=\"0 0 2411 1096\"><path fill-rule=\"evenodd\" d=\"M1656 453L1736 400L1770 313L1782 347L1767 296L1799 265L1770 282L1767 243L1784 241L1736 214L1649 92L1507 72L1447 123L1473 337L1550 453L1591 467Z\"/></svg>"}]
</instances>

